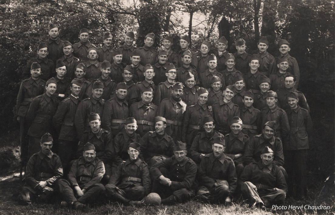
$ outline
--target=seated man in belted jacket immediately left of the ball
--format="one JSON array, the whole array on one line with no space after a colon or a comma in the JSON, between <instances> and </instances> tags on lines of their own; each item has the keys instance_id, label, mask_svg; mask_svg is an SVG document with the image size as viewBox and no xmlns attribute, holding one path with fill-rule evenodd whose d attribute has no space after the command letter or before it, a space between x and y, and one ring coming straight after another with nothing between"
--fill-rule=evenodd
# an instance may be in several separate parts
<instances>
[{"instance_id":1,"label":"seated man in belted jacket immediately left of the ball","mask_svg":"<svg viewBox=\"0 0 335 215\"><path fill-rule=\"evenodd\" d=\"M113 172L106 187L108 195L124 204L141 206L141 200L151 190L148 165L138 158L140 144L130 143L129 158Z\"/></svg>"}]
</instances>

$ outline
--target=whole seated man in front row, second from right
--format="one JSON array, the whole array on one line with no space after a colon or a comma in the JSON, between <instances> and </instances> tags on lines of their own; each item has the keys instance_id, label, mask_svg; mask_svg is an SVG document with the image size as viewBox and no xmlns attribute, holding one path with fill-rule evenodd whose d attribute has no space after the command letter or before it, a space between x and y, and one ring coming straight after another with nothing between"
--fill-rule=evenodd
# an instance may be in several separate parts
<instances>
[{"instance_id":1,"label":"whole seated man in front row, second from right","mask_svg":"<svg viewBox=\"0 0 335 215\"><path fill-rule=\"evenodd\" d=\"M197 196L203 202L230 204L235 191L237 176L233 160L223 151L224 139L216 137L213 152L206 154L200 163L200 185Z\"/></svg>"}]
</instances>

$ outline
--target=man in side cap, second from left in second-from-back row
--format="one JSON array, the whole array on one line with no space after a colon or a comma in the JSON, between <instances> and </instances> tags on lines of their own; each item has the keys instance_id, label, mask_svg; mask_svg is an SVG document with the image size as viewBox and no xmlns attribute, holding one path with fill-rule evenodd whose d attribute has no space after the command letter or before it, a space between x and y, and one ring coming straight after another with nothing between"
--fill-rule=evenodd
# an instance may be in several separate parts
<instances>
[{"instance_id":1,"label":"man in side cap, second from left in second-from-back row","mask_svg":"<svg viewBox=\"0 0 335 215\"><path fill-rule=\"evenodd\" d=\"M64 55L58 60L61 60L65 64L67 71L65 79L70 82L75 76L74 72L80 60L73 56L73 46L69 41L64 41L63 53Z\"/></svg>"}]
</instances>

